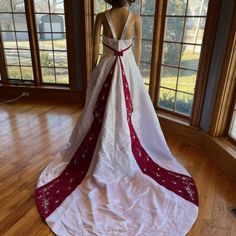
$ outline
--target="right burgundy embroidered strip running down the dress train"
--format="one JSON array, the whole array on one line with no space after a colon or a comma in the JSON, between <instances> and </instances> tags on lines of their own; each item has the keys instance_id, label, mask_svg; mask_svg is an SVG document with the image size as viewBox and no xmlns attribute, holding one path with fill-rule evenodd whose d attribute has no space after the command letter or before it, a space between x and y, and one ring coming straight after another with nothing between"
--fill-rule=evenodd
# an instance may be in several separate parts
<instances>
[{"instance_id":1,"label":"right burgundy embroidered strip running down the dress train","mask_svg":"<svg viewBox=\"0 0 236 236\"><path fill-rule=\"evenodd\" d=\"M122 71L123 90L126 103L127 121L130 130L132 152L136 162L139 165L139 168L144 174L154 179L160 185L198 206L198 193L193 178L162 168L151 159L140 143L132 123L133 105L130 90L122 60L121 58L119 59Z\"/></svg>"}]
</instances>

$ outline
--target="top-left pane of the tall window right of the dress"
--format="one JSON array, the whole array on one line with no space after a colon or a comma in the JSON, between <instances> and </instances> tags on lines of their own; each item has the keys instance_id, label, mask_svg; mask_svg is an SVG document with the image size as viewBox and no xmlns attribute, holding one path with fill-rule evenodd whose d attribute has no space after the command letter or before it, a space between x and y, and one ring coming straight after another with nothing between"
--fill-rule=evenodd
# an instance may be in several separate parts
<instances>
[{"instance_id":1,"label":"top-left pane of the tall window right of the dress","mask_svg":"<svg viewBox=\"0 0 236 236\"><path fill-rule=\"evenodd\" d=\"M187 0L168 0L167 15L185 15Z\"/></svg>"}]
</instances>

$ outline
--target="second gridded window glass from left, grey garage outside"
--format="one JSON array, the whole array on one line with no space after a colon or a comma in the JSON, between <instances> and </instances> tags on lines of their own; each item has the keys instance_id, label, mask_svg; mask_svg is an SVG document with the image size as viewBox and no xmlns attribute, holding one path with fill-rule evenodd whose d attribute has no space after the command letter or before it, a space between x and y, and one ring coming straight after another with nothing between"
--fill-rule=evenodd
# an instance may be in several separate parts
<instances>
[{"instance_id":1,"label":"second gridded window glass from left, grey garage outside","mask_svg":"<svg viewBox=\"0 0 236 236\"><path fill-rule=\"evenodd\" d=\"M63 0L34 0L43 83L68 84Z\"/></svg>"}]
</instances>

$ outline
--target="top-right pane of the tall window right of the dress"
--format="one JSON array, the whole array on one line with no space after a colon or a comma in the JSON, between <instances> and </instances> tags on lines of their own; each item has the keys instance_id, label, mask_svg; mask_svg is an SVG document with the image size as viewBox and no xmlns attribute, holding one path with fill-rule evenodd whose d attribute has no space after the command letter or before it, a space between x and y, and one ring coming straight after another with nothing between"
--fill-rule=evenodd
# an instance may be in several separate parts
<instances>
[{"instance_id":1,"label":"top-right pane of the tall window right of the dress","mask_svg":"<svg viewBox=\"0 0 236 236\"><path fill-rule=\"evenodd\" d=\"M206 16L208 0L189 0L187 15Z\"/></svg>"}]
</instances>

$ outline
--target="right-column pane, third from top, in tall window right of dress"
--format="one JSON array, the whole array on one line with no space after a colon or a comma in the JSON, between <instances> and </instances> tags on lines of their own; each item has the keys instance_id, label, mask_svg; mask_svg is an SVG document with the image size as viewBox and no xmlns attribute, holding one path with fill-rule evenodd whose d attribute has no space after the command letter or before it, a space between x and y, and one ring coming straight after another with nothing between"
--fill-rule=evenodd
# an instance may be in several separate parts
<instances>
[{"instance_id":1,"label":"right-column pane, third from top, in tall window right of dress","mask_svg":"<svg viewBox=\"0 0 236 236\"><path fill-rule=\"evenodd\" d=\"M198 69L201 46L183 45L180 66L192 70Z\"/></svg>"}]
</instances>

